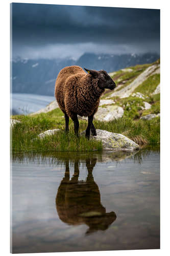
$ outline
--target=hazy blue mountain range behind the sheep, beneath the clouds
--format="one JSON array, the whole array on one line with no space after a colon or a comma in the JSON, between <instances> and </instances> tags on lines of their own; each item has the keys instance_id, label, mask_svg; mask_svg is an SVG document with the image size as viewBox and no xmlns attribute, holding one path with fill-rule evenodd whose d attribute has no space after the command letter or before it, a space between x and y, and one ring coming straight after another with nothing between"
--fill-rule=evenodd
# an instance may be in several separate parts
<instances>
[{"instance_id":1,"label":"hazy blue mountain range behind the sheep, beneath the clouds","mask_svg":"<svg viewBox=\"0 0 170 256\"><path fill-rule=\"evenodd\" d=\"M72 65L108 73L135 66L152 63L159 58L156 53L145 54L93 54L85 53L78 60L65 59L14 59L12 61L12 93L54 95L55 80L59 71Z\"/></svg>"}]
</instances>

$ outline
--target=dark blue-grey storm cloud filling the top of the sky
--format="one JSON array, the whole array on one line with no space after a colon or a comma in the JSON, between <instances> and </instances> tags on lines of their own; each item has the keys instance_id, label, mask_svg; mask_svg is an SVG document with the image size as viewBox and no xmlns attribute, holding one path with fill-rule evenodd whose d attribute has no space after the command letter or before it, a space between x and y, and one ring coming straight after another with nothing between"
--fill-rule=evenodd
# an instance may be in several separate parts
<instances>
[{"instance_id":1,"label":"dark blue-grey storm cloud filling the top of the sky","mask_svg":"<svg viewBox=\"0 0 170 256\"><path fill-rule=\"evenodd\" d=\"M12 4L14 50L90 42L159 51L159 24L159 10Z\"/></svg>"}]
</instances>

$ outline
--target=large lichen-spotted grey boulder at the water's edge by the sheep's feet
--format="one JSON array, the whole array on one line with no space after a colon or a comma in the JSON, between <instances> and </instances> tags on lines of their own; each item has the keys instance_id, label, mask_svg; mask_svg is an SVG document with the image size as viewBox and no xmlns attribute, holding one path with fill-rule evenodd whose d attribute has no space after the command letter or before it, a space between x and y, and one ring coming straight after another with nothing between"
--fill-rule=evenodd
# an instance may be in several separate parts
<instances>
[{"instance_id":1,"label":"large lichen-spotted grey boulder at the water's edge by the sheep's feet","mask_svg":"<svg viewBox=\"0 0 170 256\"><path fill-rule=\"evenodd\" d=\"M97 136L92 136L90 133L90 138L93 138L95 140L102 140L103 148L105 150L135 151L139 149L138 144L122 134L110 133L108 131L99 129L96 129L96 133ZM85 134L85 131L81 134Z\"/></svg>"}]
</instances>

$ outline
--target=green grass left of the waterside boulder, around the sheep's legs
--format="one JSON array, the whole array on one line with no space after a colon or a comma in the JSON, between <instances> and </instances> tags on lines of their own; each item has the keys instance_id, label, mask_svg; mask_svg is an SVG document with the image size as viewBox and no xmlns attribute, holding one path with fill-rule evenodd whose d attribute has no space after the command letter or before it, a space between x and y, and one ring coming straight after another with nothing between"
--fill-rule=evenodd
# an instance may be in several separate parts
<instances>
[{"instance_id":1,"label":"green grass left of the waterside boulder, around the sheep's legs","mask_svg":"<svg viewBox=\"0 0 170 256\"><path fill-rule=\"evenodd\" d=\"M70 133L65 134L65 119L61 110L56 109L46 114L35 116L13 116L20 120L12 129L13 152L27 151L61 151L61 152L85 152L102 150L100 141L87 141L84 136L79 139L74 134L74 124L70 121ZM80 125L81 125L80 121ZM55 128L61 129L53 136L44 139L37 138L38 134Z\"/></svg>"}]
</instances>

